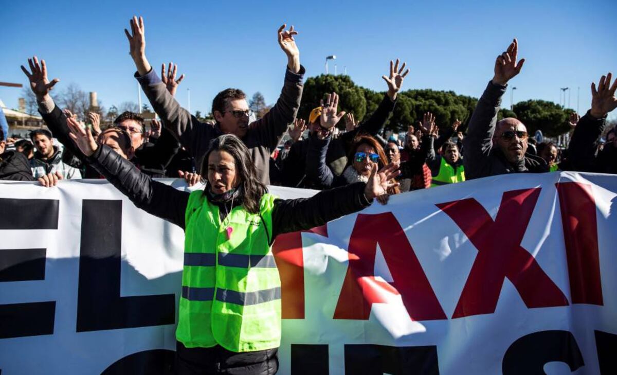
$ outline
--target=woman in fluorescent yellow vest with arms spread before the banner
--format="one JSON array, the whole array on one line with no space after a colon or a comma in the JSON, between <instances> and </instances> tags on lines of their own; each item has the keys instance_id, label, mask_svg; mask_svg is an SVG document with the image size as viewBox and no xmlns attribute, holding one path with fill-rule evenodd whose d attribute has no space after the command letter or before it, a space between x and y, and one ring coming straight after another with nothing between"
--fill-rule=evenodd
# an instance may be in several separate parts
<instances>
[{"instance_id":1,"label":"woman in fluorescent yellow vest with arms spread before the banner","mask_svg":"<svg viewBox=\"0 0 617 375\"><path fill-rule=\"evenodd\" d=\"M90 165L139 208L184 229L184 270L176 329L178 374L275 374L281 339L281 282L271 245L371 204L394 187L388 165L366 183L281 200L260 183L249 150L232 134L210 142L204 191L152 181L89 130L68 119Z\"/></svg>"}]
</instances>

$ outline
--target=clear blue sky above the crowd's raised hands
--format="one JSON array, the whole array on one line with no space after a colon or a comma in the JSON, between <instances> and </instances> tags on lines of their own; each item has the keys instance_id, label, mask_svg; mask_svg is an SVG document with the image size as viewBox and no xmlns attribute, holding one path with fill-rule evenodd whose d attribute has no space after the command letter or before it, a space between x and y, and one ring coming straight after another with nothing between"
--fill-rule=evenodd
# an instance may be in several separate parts
<instances>
[{"instance_id":1,"label":"clear blue sky above the crowd's raised hands","mask_svg":"<svg viewBox=\"0 0 617 375\"><path fill-rule=\"evenodd\" d=\"M336 54L355 83L382 91L390 59L411 68L404 89L453 90L478 97L492 77L495 57L518 38L523 72L511 81L515 102L559 102L570 87L570 107L589 109L590 83L617 73L617 1L354 1L354 2L75 2L7 1L0 12L0 81L26 84L19 65L36 54L48 63L57 89L77 83L97 91L109 108L137 102L135 66L123 28L133 14L146 22L146 54L160 70L177 63L186 79L178 100L191 112L209 112L227 87L276 101L286 57L276 42L284 22L300 32L297 44L307 77L324 71ZM330 62L330 72L334 64ZM17 107L20 89L0 87ZM143 97L144 102L147 99ZM504 97L510 105L510 94ZM566 98L567 104L567 98ZM611 118L617 118L612 113Z\"/></svg>"}]
</instances>

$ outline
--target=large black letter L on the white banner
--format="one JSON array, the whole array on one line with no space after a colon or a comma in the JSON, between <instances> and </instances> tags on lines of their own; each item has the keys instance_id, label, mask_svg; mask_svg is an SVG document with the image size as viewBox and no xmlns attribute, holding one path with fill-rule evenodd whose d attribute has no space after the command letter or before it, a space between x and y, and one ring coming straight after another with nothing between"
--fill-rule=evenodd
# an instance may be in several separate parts
<instances>
[{"instance_id":1,"label":"large black letter L on the white banner","mask_svg":"<svg viewBox=\"0 0 617 375\"><path fill-rule=\"evenodd\" d=\"M77 332L175 323L175 295L120 297L122 200L83 200Z\"/></svg>"}]
</instances>

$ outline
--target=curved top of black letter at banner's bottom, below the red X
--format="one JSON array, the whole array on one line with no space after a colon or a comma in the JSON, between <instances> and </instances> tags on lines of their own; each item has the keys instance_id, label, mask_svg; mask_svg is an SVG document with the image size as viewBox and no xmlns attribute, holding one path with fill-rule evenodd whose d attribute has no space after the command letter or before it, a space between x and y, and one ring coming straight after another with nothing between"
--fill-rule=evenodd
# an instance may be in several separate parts
<instances>
[{"instance_id":1,"label":"curved top of black letter at banner's bottom, below the red X","mask_svg":"<svg viewBox=\"0 0 617 375\"><path fill-rule=\"evenodd\" d=\"M521 337L503 356L503 375L544 375L544 365L564 362L570 371L585 365L576 339L569 331L540 331Z\"/></svg>"}]
</instances>

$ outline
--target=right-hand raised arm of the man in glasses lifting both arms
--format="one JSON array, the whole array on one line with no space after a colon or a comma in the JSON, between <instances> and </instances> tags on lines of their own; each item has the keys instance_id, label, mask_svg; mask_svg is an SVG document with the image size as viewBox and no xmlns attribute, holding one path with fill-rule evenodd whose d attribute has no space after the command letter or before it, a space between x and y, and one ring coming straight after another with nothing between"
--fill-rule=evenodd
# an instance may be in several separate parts
<instances>
[{"instance_id":1,"label":"right-hand raised arm of the man in glasses lifting both arms","mask_svg":"<svg viewBox=\"0 0 617 375\"><path fill-rule=\"evenodd\" d=\"M300 65L300 51L294 38L298 32L293 26L289 30L285 30L285 27L283 25L278 29L278 44L288 59L281 95L263 118L249 125L249 133L252 133L260 146L267 146L270 151L275 149L288 126L296 119L304 88L302 79L305 69Z\"/></svg>"}]
</instances>

